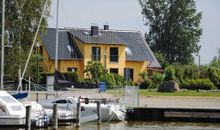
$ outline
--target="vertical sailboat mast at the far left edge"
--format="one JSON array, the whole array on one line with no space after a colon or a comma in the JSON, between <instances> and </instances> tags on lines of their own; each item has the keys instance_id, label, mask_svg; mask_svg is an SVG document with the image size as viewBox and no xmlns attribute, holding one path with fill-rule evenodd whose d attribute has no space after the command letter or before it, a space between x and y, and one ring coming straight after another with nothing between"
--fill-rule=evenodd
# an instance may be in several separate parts
<instances>
[{"instance_id":1,"label":"vertical sailboat mast at the far left edge","mask_svg":"<svg viewBox=\"0 0 220 130\"><path fill-rule=\"evenodd\" d=\"M4 89L4 52L5 52L5 0L2 0L2 58L1 58L1 90Z\"/></svg>"}]
</instances>

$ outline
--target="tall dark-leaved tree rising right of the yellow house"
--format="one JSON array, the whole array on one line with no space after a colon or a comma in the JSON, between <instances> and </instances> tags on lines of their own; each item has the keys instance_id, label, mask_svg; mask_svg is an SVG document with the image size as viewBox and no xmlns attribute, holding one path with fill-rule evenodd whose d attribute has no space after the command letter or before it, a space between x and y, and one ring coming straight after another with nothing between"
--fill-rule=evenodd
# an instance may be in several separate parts
<instances>
[{"instance_id":1,"label":"tall dark-leaved tree rising right of the yellow house","mask_svg":"<svg viewBox=\"0 0 220 130\"><path fill-rule=\"evenodd\" d=\"M146 41L154 52L161 53L169 63L189 64L198 53L202 35L202 13L196 11L194 0L139 0L145 25Z\"/></svg>"}]
</instances>

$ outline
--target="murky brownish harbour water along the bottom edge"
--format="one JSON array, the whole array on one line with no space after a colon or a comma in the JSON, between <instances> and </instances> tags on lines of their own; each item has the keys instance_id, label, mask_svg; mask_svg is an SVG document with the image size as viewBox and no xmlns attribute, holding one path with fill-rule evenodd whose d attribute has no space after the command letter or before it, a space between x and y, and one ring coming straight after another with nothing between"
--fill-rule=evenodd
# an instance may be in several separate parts
<instances>
[{"instance_id":1,"label":"murky brownish harbour water along the bottom edge","mask_svg":"<svg viewBox=\"0 0 220 130\"><path fill-rule=\"evenodd\" d=\"M52 128L49 128L52 130ZM183 122L96 122L82 123L75 126L59 126L59 130L220 130L215 123L183 123Z\"/></svg>"}]
</instances>

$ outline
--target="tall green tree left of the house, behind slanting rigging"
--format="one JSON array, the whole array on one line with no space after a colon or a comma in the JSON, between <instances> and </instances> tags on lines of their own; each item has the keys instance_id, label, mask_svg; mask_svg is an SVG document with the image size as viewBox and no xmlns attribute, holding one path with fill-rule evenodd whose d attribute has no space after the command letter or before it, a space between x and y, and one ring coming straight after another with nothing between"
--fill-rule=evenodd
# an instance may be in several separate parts
<instances>
[{"instance_id":1,"label":"tall green tree left of the house, behind slanting rigging","mask_svg":"<svg viewBox=\"0 0 220 130\"><path fill-rule=\"evenodd\" d=\"M0 0L0 13L2 0ZM5 76L18 79L18 66L23 70L46 0L6 0L5 1ZM41 31L47 27L51 0L41 23ZM0 16L1 17L1 16ZM1 27L1 25L0 25ZM8 48L10 45L10 48ZM36 59L36 58L35 58ZM33 67L33 65L30 65ZM34 75L29 67L28 76ZM36 73L36 72L35 72Z\"/></svg>"}]
</instances>

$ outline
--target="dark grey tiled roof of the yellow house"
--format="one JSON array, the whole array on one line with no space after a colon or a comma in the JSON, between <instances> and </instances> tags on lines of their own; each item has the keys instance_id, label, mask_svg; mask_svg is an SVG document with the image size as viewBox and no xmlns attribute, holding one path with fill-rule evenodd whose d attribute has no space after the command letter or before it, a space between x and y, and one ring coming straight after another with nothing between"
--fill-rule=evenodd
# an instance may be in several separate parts
<instances>
[{"instance_id":1,"label":"dark grey tiled roof of the yellow house","mask_svg":"<svg viewBox=\"0 0 220 130\"><path fill-rule=\"evenodd\" d=\"M70 59L71 55L68 53L67 45L70 39L68 32L74 37L82 40L84 43L95 44L122 44L126 48L126 60L128 61L150 61L148 67L161 68L159 62L155 58L151 49L147 45L142 34L138 31L116 31L116 30L99 30L99 35L90 35L89 29L67 28L59 32L59 59ZM55 56L55 34L56 30L48 28L47 34L42 35L41 38L49 56L54 59ZM80 54L81 56L81 54ZM81 56L82 57L82 56ZM80 58L81 58L80 57Z\"/></svg>"}]
</instances>

